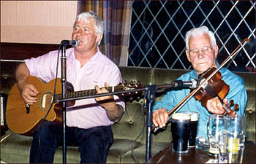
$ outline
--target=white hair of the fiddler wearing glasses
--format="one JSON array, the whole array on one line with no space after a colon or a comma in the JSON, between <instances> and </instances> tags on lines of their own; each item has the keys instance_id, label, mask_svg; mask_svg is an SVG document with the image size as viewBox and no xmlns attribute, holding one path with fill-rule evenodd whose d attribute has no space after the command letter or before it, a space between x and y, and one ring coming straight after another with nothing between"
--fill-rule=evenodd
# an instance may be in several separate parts
<instances>
[{"instance_id":1,"label":"white hair of the fiddler wearing glasses","mask_svg":"<svg viewBox=\"0 0 256 164\"><path fill-rule=\"evenodd\" d=\"M212 31L209 31L206 26L202 26L199 28L192 28L191 30L187 31L186 37L185 37L187 50L189 50L189 39L191 38L191 36L200 36L203 34L207 34L210 37L211 46L216 45L216 39L215 39L214 33Z\"/></svg>"}]
</instances>

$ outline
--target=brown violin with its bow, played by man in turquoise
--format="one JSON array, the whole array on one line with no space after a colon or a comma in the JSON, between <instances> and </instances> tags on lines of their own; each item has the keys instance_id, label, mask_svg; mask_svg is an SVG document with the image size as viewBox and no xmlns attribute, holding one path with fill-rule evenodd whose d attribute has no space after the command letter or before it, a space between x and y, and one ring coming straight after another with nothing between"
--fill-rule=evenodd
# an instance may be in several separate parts
<instances>
[{"instance_id":1,"label":"brown violin with its bow, played by man in turquoise","mask_svg":"<svg viewBox=\"0 0 256 164\"><path fill-rule=\"evenodd\" d=\"M233 100L230 101L229 104L225 104L223 102L223 99L227 95L229 91L229 86L222 80L222 75L219 72L220 69L222 69L223 66L231 59L234 55L236 55L237 52L239 52L246 43L249 42L249 39L244 39L241 44L236 47L233 52L223 61L222 64L219 65L218 68L210 68L203 72L202 74L198 75L198 82L199 85L195 90L190 90L189 95L187 95L181 102L179 102L173 109L168 112L168 115L172 114L173 112L178 111L178 109L181 109L184 104L189 101L190 98L193 96L197 101L200 101L200 103L206 107L206 102L214 97L219 98L219 101L222 103L223 109L225 110L224 114L229 114L230 116L236 115L236 110L238 109L238 104L234 106ZM233 109L230 109L230 106L234 106ZM159 130L159 127L154 126L152 128L154 133L156 133Z\"/></svg>"}]
</instances>

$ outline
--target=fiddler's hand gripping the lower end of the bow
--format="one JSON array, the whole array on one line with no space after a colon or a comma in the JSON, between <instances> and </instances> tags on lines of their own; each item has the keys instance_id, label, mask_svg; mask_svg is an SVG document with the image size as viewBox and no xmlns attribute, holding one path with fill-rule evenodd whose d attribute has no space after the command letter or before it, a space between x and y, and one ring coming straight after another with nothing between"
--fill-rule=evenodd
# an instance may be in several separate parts
<instances>
[{"instance_id":1,"label":"fiddler's hand gripping the lower end of the bow","mask_svg":"<svg viewBox=\"0 0 256 164\"><path fill-rule=\"evenodd\" d=\"M169 115L165 108L157 109L152 114L152 122L156 127L158 126L159 128L165 127L168 120L169 120Z\"/></svg>"}]
</instances>

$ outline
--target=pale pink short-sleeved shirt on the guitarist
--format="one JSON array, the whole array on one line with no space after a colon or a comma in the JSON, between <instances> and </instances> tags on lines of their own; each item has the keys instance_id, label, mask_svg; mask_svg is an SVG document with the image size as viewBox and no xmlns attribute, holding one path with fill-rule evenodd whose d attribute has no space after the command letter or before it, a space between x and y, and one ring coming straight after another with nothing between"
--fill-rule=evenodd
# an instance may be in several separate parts
<instances>
[{"instance_id":1,"label":"pale pink short-sleeved shirt on the guitarist","mask_svg":"<svg viewBox=\"0 0 256 164\"><path fill-rule=\"evenodd\" d=\"M70 82L75 91L91 90L95 85L104 87L105 82L110 86L116 86L121 82L121 73L108 57L99 50L83 66L75 58L75 49L66 50L67 56L67 82ZM60 53L61 56L61 53ZM37 58L26 59L26 66L30 75L39 77L43 82L50 82L56 77L58 50L48 52ZM58 77L61 77L61 58L59 58ZM115 100L118 96L114 95ZM123 106L124 101L116 101ZM108 119L106 111L97 104L94 98L75 101L75 106L67 107L67 126L78 128L93 128L96 126L113 125Z\"/></svg>"}]
</instances>

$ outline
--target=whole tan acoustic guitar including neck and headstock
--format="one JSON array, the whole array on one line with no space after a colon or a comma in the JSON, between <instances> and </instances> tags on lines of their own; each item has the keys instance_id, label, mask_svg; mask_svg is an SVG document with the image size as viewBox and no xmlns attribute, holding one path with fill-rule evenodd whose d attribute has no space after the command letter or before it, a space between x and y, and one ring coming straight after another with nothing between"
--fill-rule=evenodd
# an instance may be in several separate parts
<instances>
[{"instance_id":1,"label":"whole tan acoustic guitar including neck and headstock","mask_svg":"<svg viewBox=\"0 0 256 164\"><path fill-rule=\"evenodd\" d=\"M48 109L51 106L48 116L45 120L53 121L62 125L62 104L58 103L60 100L63 100L62 89L61 89L61 79L56 79L56 94L53 95L55 79L48 83L42 82L37 77L30 76L27 81L33 84L39 94L37 95L37 103L33 105L25 104L23 99L20 97L20 91L18 90L17 83L12 86L10 93L7 99L7 110L6 110L6 122L8 128L14 132L23 134L25 136L31 136L35 128L39 126L42 122L42 119L47 114ZM118 96L132 95L132 90L141 88L139 83L127 82L121 83L120 85L114 87L107 87L110 93L121 92L129 90L128 92L121 93ZM73 87L70 83L67 82L67 93L66 98L81 98L87 95L96 95L96 90L80 90L73 92ZM54 96L54 97L53 97ZM75 104L75 101L67 102L66 106L72 106Z\"/></svg>"}]
</instances>

